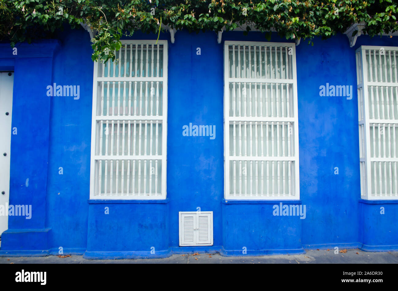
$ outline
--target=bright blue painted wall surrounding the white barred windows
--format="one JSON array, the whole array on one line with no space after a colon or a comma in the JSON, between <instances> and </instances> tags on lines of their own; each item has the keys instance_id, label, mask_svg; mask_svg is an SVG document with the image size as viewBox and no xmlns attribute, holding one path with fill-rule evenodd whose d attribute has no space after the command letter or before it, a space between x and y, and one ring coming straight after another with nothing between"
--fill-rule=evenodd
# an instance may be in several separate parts
<instances>
[{"instance_id":1,"label":"bright blue painted wall surrounding the white barred windows","mask_svg":"<svg viewBox=\"0 0 398 291\"><path fill-rule=\"evenodd\" d=\"M136 33L133 39L156 36ZM217 43L214 32L178 31L174 44L167 33L160 39L169 41L168 199L161 203L88 201L93 62L86 31L66 30L58 39L59 47L46 56L6 57L7 49L0 47L4 53L0 55L0 68L12 67L16 74L13 126L19 127L18 136L12 136L10 204L33 205L30 221L10 219L0 255L33 254L30 250L56 254L62 247L64 253L86 251L87 258L140 258L187 250L238 255L242 247L248 254L271 254L303 252L303 246L365 244L373 246L371 250L382 250L382 246L388 249L398 245L398 233L393 230L396 204L391 202L389 215L380 218L375 205L359 202L355 89L355 49L360 45L396 46L396 38L361 36L350 48L347 37L339 34L326 41L315 39L313 46L302 41L296 47L300 155L297 203L306 205L305 219L273 216L272 206L277 202L230 203L223 199L223 45ZM256 32L248 36L225 32L225 40L265 41ZM277 35L271 41L286 42ZM196 54L197 47L201 55ZM46 86L54 82L80 85L80 99L47 97ZM352 85L352 100L320 97L319 86L326 83ZM189 123L215 125L215 139L184 137L182 127ZM59 175L59 167L63 175ZM339 168L338 175L334 174L335 167ZM24 186L26 178L29 187ZM109 215L104 214L105 207L109 207ZM197 207L213 211L214 245L180 248L178 211L196 211ZM375 239L379 232L382 236ZM45 242L37 246L35 241ZM150 253L152 247L155 254Z\"/></svg>"}]
</instances>

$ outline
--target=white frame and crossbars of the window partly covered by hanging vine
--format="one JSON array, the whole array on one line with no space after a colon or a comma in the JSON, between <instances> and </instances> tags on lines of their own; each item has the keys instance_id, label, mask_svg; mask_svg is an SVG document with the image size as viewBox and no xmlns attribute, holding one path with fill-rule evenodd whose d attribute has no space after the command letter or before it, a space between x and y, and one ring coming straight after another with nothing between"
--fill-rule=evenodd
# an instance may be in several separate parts
<instances>
[{"instance_id":1,"label":"white frame and crossbars of the window partly covered by hanging vine","mask_svg":"<svg viewBox=\"0 0 398 291\"><path fill-rule=\"evenodd\" d=\"M162 77L98 77L98 62L94 62L94 76L93 76L93 107L92 107L92 129L91 129L91 158L90 158L90 199L123 199L123 200L160 200L160 199L166 199L166 179L167 179L167 100L168 100L168 41L167 40L122 40L122 48L124 45L163 45L163 76ZM119 53L117 53L117 58ZM100 119L103 119L101 117L103 116L97 116L96 110L97 110L97 98L98 98L98 86L100 86L100 82L102 81L123 81L123 82L156 82L156 81L161 81L162 86L163 86L163 94L162 94L162 116L140 116L140 115L135 115L134 118L131 118L130 120L153 120L153 121L159 121L159 123L162 123L162 155L158 155L159 158L156 158L156 160L161 160L161 166L162 166L162 177L161 177L161 182L160 182L160 190L161 193L160 195L95 195L94 190L95 190L95 184L98 183L96 180L96 169L95 169L95 162L98 159L101 159L101 156L96 156L95 155L95 150L96 150L96 122ZM111 116L109 120L117 119L118 117L116 116ZM128 120L123 118L123 116L120 117L120 120ZM131 138L133 138L133 133L131 133ZM152 156L146 156L146 155L119 155L121 159L123 158L124 160L151 160ZM102 159L105 159L103 156ZM109 157L109 156L108 156ZM155 156L153 156L155 157ZM155 159L155 158L154 158Z\"/></svg>"}]
</instances>

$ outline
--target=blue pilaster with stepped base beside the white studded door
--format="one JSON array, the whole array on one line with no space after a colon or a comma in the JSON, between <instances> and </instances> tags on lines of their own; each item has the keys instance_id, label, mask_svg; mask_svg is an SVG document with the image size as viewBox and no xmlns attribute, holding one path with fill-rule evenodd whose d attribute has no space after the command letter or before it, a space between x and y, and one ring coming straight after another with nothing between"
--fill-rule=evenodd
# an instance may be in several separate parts
<instances>
[{"instance_id":1,"label":"blue pilaster with stepped base beside the white studded door","mask_svg":"<svg viewBox=\"0 0 398 291\"><path fill-rule=\"evenodd\" d=\"M0 46L0 67L12 66L14 93L11 137L10 205L28 205L31 217L8 217L2 233L0 255L40 255L48 252L46 229L47 168L49 156L50 102L56 40L17 46ZM31 206L30 206L31 205Z\"/></svg>"}]
</instances>

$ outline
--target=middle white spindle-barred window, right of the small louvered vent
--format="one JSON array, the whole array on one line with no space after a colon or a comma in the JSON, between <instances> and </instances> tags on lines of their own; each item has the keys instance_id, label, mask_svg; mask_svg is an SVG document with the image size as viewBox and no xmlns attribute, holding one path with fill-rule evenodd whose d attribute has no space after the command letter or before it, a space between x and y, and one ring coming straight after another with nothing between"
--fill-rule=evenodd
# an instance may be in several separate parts
<instances>
[{"instance_id":1,"label":"middle white spindle-barred window, right of the small louvered vent","mask_svg":"<svg viewBox=\"0 0 398 291\"><path fill-rule=\"evenodd\" d=\"M299 199L294 43L224 45L225 199Z\"/></svg>"}]
</instances>

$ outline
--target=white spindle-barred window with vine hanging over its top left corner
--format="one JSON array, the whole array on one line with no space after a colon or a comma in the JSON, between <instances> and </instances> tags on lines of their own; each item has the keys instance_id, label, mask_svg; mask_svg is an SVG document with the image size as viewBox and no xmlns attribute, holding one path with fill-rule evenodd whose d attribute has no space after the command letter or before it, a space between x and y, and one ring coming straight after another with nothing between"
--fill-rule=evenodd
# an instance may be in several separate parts
<instances>
[{"instance_id":1,"label":"white spindle-barred window with vine hanging over its top left corner","mask_svg":"<svg viewBox=\"0 0 398 291\"><path fill-rule=\"evenodd\" d=\"M167 41L94 64L90 199L166 199Z\"/></svg>"}]
</instances>

